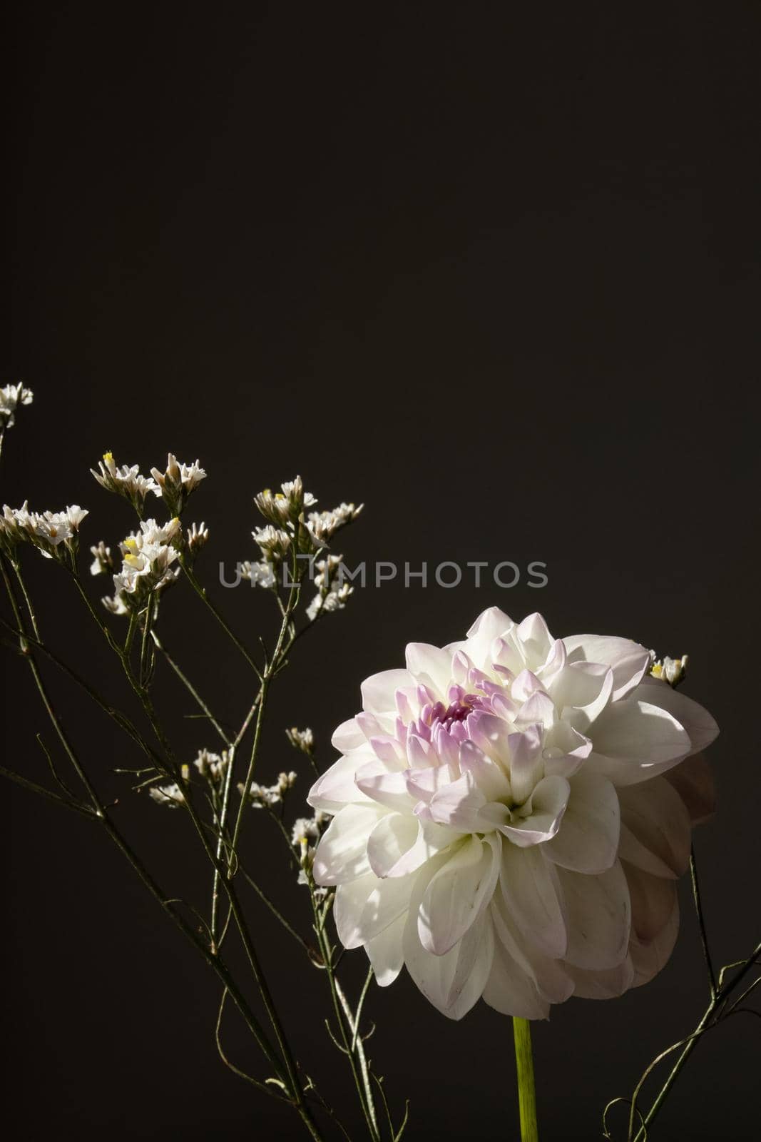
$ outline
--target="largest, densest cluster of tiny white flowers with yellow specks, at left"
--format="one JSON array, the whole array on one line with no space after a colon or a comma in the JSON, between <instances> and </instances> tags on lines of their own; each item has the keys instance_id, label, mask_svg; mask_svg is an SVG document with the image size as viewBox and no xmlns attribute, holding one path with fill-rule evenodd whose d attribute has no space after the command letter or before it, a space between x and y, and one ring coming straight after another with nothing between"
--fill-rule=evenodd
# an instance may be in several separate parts
<instances>
[{"instance_id":1,"label":"largest, densest cluster of tiny white flowers with yellow specks, at left","mask_svg":"<svg viewBox=\"0 0 761 1142\"><path fill-rule=\"evenodd\" d=\"M177 517L169 523L141 520L140 530L128 536L120 545L121 570L114 576L114 597L104 598L103 605L114 614L127 614L140 606L152 590L163 590L175 582L179 568L175 540L181 537Z\"/></svg>"}]
</instances>

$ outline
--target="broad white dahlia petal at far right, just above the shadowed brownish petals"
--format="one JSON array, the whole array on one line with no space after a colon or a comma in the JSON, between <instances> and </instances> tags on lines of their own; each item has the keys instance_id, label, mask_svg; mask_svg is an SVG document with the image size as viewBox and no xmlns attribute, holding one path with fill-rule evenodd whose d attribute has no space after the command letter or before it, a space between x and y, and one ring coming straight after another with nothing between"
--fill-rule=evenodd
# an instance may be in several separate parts
<instances>
[{"instance_id":1,"label":"broad white dahlia petal at far right, just above the shadowed brownish petals","mask_svg":"<svg viewBox=\"0 0 761 1142\"><path fill-rule=\"evenodd\" d=\"M642 687L635 693L642 693ZM590 737L593 749L586 767L610 778L615 786L657 777L691 753L685 727L665 708L635 697L609 706Z\"/></svg>"}]
</instances>

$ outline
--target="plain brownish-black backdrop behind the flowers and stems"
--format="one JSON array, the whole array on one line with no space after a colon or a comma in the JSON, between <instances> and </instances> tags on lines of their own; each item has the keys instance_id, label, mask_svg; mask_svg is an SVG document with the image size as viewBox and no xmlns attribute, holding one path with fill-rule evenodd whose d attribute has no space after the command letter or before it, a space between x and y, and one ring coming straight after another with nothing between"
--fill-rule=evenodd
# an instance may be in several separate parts
<instances>
[{"instance_id":1,"label":"plain brownish-black backdrop behind the flowers and stems","mask_svg":"<svg viewBox=\"0 0 761 1142\"><path fill-rule=\"evenodd\" d=\"M689 651L687 692L722 727L720 809L697 839L707 922L718 963L747 954L758 7L25 5L16 17L3 378L23 377L35 403L7 436L2 499L78 501L86 540L113 545L129 513L88 474L100 453L144 471L168 449L199 456L203 570L250 641L272 634L270 601L214 587L216 568L252 554L253 492L297 471L322 506L366 502L349 562L547 562L542 590L357 592L275 690L261 773L298 767L282 735L293 723L315 729L326 766L364 676L399 664L407 641L460 637L492 604L539 608L559 635ZM43 629L120 694L63 574L29 566ZM245 667L185 587L163 613L168 643L238 721ZM8 654L3 666L5 758L44 780L34 733L49 731L30 678ZM167 671L156 685L189 761L213 739ZM189 892L207 874L184 818L131 796L111 772L139 764L127 740L57 692L136 844ZM106 839L21 790L2 796L9 1136L300 1136L219 1063L216 982ZM250 861L305 926L268 822L248 823ZM683 903L653 983L572 999L535 1027L545 1140L599 1137L606 1101L702 1013ZM340 1101L324 996L250 906L299 1054ZM358 980L364 956L350 958ZM450 1023L406 976L369 1012L394 1105L412 1099L411 1139L516 1136L508 1020L479 1005ZM227 1036L262 1073L235 1015ZM653 1136L755 1136L758 1044L752 1020L712 1032Z\"/></svg>"}]
</instances>

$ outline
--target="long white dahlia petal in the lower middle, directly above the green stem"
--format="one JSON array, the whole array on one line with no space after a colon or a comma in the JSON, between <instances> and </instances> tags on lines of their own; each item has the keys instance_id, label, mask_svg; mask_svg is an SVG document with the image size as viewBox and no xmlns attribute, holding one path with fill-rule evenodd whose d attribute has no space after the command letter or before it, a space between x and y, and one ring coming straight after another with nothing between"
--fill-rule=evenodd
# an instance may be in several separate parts
<instances>
[{"instance_id":1,"label":"long white dahlia petal in the lower middle, directly above the green stem","mask_svg":"<svg viewBox=\"0 0 761 1142\"><path fill-rule=\"evenodd\" d=\"M500 885L508 912L526 940L556 959L568 944L558 876L541 845L502 846Z\"/></svg>"}]
</instances>

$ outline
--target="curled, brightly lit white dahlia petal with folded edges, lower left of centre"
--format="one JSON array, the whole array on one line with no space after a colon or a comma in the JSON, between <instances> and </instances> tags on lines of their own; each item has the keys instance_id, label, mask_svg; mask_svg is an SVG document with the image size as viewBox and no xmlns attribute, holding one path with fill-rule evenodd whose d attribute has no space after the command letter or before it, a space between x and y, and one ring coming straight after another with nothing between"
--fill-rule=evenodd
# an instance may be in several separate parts
<instances>
[{"instance_id":1,"label":"curled, brightly lit white dahlia petal with folded edges, lower left of centre","mask_svg":"<svg viewBox=\"0 0 761 1142\"><path fill-rule=\"evenodd\" d=\"M431 878L420 904L423 948L444 956L462 939L491 900L500 872L500 842L469 837Z\"/></svg>"}]
</instances>

